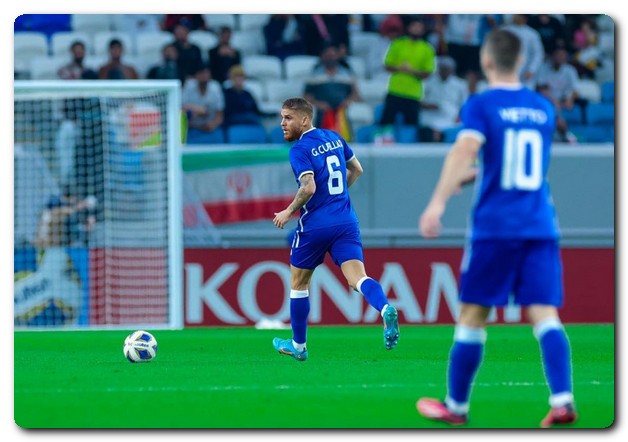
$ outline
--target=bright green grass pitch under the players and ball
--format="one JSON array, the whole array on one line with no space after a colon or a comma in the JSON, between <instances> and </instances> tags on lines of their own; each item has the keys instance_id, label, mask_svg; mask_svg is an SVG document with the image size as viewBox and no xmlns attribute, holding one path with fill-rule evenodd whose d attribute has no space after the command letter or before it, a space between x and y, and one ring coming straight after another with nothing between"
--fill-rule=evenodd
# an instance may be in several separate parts
<instances>
[{"instance_id":1,"label":"bright green grass pitch under the players and ball","mask_svg":"<svg viewBox=\"0 0 628 442\"><path fill-rule=\"evenodd\" d=\"M613 325L567 325L579 428L615 420ZM406 325L384 349L377 326L311 326L309 359L272 347L289 330L150 330L159 351L131 364L132 330L16 331L14 418L24 428L446 428L419 397L445 394L452 326ZM529 326L487 328L467 428L537 428L548 411ZM464 428L464 427L463 427Z\"/></svg>"}]
</instances>

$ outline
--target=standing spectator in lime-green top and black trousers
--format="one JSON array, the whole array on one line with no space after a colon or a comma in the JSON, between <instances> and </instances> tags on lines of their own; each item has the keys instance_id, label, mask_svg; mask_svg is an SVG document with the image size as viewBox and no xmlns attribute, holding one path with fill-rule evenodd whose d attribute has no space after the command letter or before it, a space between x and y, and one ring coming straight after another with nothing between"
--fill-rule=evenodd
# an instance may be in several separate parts
<instances>
[{"instance_id":1,"label":"standing spectator in lime-green top and black trousers","mask_svg":"<svg viewBox=\"0 0 628 442\"><path fill-rule=\"evenodd\" d=\"M423 98L423 80L434 72L434 48L425 41L425 25L419 18L411 19L405 36L393 40L386 53L384 66L391 72L388 91L379 124L395 124L397 114L403 123L419 127L419 103Z\"/></svg>"}]
</instances>

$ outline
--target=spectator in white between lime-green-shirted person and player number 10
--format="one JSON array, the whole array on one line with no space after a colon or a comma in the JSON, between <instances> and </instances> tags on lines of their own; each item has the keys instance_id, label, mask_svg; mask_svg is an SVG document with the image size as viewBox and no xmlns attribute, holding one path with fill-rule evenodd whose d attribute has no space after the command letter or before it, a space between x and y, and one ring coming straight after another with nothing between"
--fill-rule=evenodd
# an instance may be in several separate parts
<instances>
[{"instance_id":1,"label":"spectator in white between lime-green-shirted person and player number 10","mask_svg":"<svg viewBox=\"0 0 628 442\"><path fill-rule=\"evenodd\" d=\"M441 142L445 129L459 123L462 104L467 99L467 83L455 75L456 62L449 56L436 59L436 74L423 84L425 94L421 101L420 141Z\"/></svg>"}]
</instances>

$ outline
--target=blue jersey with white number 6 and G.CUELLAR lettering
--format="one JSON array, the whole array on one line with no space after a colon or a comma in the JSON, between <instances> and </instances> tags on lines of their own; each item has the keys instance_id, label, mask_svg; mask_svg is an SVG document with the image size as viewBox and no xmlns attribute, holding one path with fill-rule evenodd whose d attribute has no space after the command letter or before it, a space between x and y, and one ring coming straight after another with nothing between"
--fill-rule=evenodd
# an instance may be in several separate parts
<instances>
[{"instance_id":1,"label":"blue jersey with white number 6 and G.CUELLAR lettering","mask_svg":"<svg viewBox=\"0 0 628 442\"><path fill-rule=\"evenodd\" d=\"M320 229L357 222L347 186L347 161L353 151L336 132L311 129L290 148L290 165L299 185L306 173L314 174L316 192L301 208L297 230Z\"/></svg>"}]
</instances>

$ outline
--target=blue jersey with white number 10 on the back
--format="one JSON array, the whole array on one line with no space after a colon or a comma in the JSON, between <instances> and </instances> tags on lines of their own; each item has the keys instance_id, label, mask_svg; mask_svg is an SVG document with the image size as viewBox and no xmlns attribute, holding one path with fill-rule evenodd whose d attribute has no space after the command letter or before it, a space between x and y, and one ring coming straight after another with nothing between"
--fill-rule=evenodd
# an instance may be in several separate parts
<instances>
[{"instance_id":1,"label":"blue jersey with white number 10 on the back","mask_svg":"<svg viewBox=\"0 0 628 442\"><path fill-rule=\"evenodd\" d=\"M549 100L521 86L494 87L464 104L459 136L483 141L472 239L558 237L547 181L555 118Z\"/></svg>"}]
</instances>

